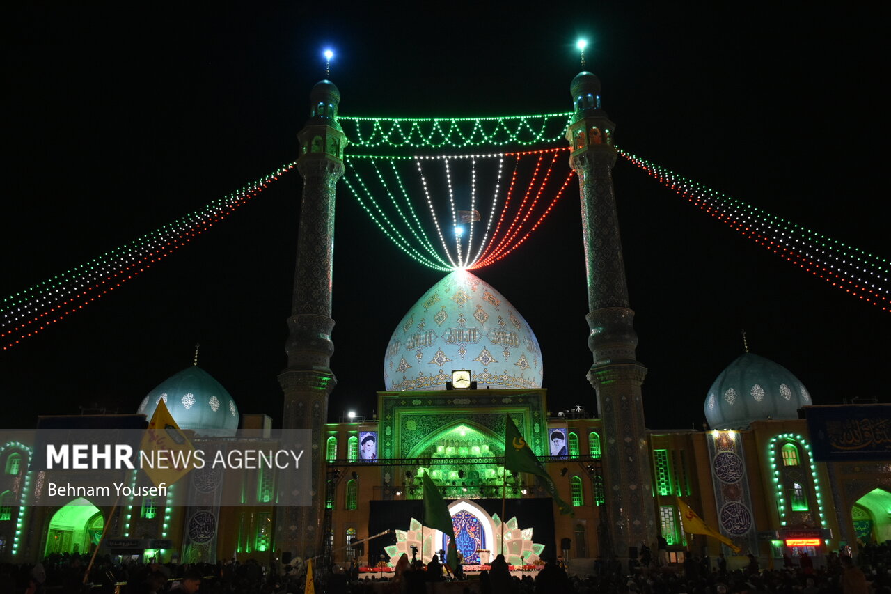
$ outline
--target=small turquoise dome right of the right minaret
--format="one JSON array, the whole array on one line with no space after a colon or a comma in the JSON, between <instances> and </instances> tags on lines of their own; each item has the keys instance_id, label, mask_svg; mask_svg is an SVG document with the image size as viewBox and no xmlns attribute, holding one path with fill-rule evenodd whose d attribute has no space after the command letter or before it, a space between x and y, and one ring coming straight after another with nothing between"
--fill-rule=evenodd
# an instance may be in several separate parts
<instances>
[{"instance_id":1,"label":"small turquoise dome right of the right minaret","mask_svg":"<svg viewBox=\"0 0 891 594\"><path fill-rule=\"evenodd\" d=\"M712 429L745 429L753 421L798 418L811 395L786 367L747 352L717 376L706 397Z\"/></svg>"}]
</instances>

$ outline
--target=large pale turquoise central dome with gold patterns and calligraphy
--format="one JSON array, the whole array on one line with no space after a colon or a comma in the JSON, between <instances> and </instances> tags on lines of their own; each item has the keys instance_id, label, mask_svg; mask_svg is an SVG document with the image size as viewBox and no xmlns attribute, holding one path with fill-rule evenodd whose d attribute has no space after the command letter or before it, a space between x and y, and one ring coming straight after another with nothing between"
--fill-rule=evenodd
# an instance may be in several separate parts
<instances>
[{"instance_id":1,"label":"large pale turquoise central dome with gold patterns and calligraphy","mask_svg":"<svg viewBox=\"0 0 891 594\"><path fill-rule=\"evenodd\" d=\"M540 388L544 375L532 328L492 285L466 270L433 285L396 326L384 385L445 390L453 369L470 369L478 389Z\"/></svg>"}]
</instances>

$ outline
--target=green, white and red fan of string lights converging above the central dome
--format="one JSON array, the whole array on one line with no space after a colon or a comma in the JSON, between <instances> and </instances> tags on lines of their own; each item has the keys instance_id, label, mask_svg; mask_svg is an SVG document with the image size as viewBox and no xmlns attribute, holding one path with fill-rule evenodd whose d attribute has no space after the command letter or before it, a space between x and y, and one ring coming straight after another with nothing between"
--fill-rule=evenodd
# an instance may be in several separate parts
<instances>
[{"instance_id":1,"label":"green, white and red fan of string lights converging above the central dome","mask_svg":"<svg viewBox=\"0 0 891 594\"><path fill-rule=\"evenodd\" d=\"M560 162L560 155L568 151L568 147L560 149L544 149L540 151L525 151L518 153L482 153L466 155L347 155L344 159L347 172L344 176L347 188L356 197L363 210L372 221L396 244L396 247L409 255L413 260L424 266L437 270L453 270L456 268L481 268L487 264L501 260L508 253L513 252L520 244L524 243L528 236L537 229L544 218L551 212L554 204L568 186L568 179L573 175L569 170L566 181L560 186L552 202L539 214L535 215L536 207L543 202L543 197L552 179L552 171ZM514 169L511 176L511 184L507 191L503 204L499 204L502 193L502 179L504 174L504 160L507 157L514 158ZM527 182L525 195L516 212L509 213L511 196L518 186L520 161L528 157L535 157L536 166ZM405 163L409 159L414 161L419 183L416 191L410 192L406 187L403 176L400 173L399 163ZM491 199L486 200L480 194L479 166L490 167L497 160L497 169L494 176ZM392 171L391 177L384 177L380 161L389 161ZM467 161L470 161L469 163ZM550 164L548 164L550 161ZM376 181L374 186L370 184L371 177L365 176L362 169L368 165L374 170ZM407 163L406 163L407 164ZM456 165L462 164L462 176L465 178L465 186L456 186ZM438 167L429 167L437 165ZM547 165L547 167L544 167ZM469 166L469 167L466 167ZM491 169L495 169L491 166ZM431 181L430 175L441 176L442 186L445 186L446 196L436 195L435 188L440 185ZM366 181L369 180L369 181ZM488 182L486 182L488 183ZM399 188L398 192L394 192ZM397 195L398 194L398 195ZM429 218L433 223L435 237L441 245L441 252L433 248L434 235L427 233L421 227L417 210L412 206L411 196L415 200L427 202ZM384 208L384 198L392 202L391 208ZM447 198L447 200L446 200ZM469 202L470 210L462 210L460 202ZM490 205L489 205L490 203ZM485 205L485 206L484 206ZM446 237L446 229L440 222L442 216L437 209L447 208L447 216L451 219L454 232L454 244L451 237ZM466 208L466 207L463 207ZM480 213L480 210L483 213ZM486 213L485 211L488 210ZM540 209L539 209L540 210ZM395 213L394 213L395 211ZM388 212L392 214L388 214ZM512 216L511 216L512 214ZM482 220L486 215L485 231L478 233L473 229L473 222ZM493 222L497 217L497 224L493 231ZM534 223L529 225L531 220ZM505 221L510 221L505 225ZM464 226L470 228L464 233ZM507 227L502 232L502 228ZM405 230L407 229L407 231ZM432 240L432 241L431 241Z\"/></svg>"}]
</instances>

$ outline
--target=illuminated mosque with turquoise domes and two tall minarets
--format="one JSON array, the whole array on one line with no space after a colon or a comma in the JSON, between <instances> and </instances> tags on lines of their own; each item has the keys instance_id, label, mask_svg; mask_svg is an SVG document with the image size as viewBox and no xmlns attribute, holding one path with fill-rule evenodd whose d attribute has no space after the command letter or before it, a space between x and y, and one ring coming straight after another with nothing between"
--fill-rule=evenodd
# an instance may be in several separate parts
<instances>
[{"instance_id":1,"label":"illuminated mosque with turquoise domes and two tall minarets","mask_svg":"<svg viewBox=\"0 0 891 594\"><path fill-rule=\"evenodd\" d=\"M310 118L298 134L304 188L288 367L279 376L283 427L313 432L311 483L295 484L273 469L193 471L164 496L125 498L115 509L88 497L41 507L55 471L29 470L35 444L8 441L0 444L0 560L34 562L97 547L165 562L322 556L374 567L413 552L427 560L445 541L421 524L422 474L449 501L469 565L503 553L515 566L562 556L584 569L601 556L634 560L642 545L654 554L664 548L672 563L691 554L733 557L720 540L683 531L679 499L741 556L752 553L763 566L784 554L819 559L830 550L856 552L863 543L891 540L891 406L814 406L792 372L746 351L710 388L703 386L707 429L643 425L646 368L634 356L621 259L614 125L601 110L592 73L572 81L571 95L575 116L567 139L580 185L593 354L588 379L599 416L582 407L548 407L547 353L534 329L509 296L456 269L411 307L406 303L401 320L391 320L395 330L380 345L386 391L377 393L376 417L327 422L336 383L333 205L348 139L337 120L339 90L325 80L313 88ZM271 417L241 413L197 364L141 403L136 399L135 415L101 422L135 418L144 425L160 400L195 444L237 448L278 439ZM561 515L534 476L505 472L508 417L573 515ZM148 484L133 471L121 471L121 480ZM276 505L279 494L300 489L310 490L311 506ZM221 505L222 492L240 493L241 505Z\"/></svg>"}]
</instances>

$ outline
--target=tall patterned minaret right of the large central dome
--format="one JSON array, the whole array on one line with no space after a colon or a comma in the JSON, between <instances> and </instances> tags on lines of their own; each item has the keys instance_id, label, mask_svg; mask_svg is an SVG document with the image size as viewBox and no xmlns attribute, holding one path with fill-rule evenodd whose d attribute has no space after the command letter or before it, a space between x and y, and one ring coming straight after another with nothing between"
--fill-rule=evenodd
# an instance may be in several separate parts
<instances>
[{"instance_id":1,"label":"tall patterned minaret right of the large central dome","mask_svg":"<svg viewBox=\"0 0 891 594\"><path fill-rule=\"evenodd\" d=\"M647 368L635 359L637 334L629 309L625 263L619 240L612 167L615 125L601 111L601 82L580 72L570 86L575 102L567 131L572 146L569 165L578 174L582 232L587 268L593 365L588 381L597 391L597 409L606 438L604 451L605 511L611 553L626 559L629 548L656 541L650 453L643 420L641 385ZM601 543L603 544L603 543Z\"/></svg>"}]
</instances>

